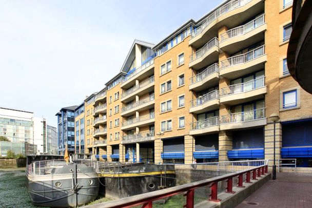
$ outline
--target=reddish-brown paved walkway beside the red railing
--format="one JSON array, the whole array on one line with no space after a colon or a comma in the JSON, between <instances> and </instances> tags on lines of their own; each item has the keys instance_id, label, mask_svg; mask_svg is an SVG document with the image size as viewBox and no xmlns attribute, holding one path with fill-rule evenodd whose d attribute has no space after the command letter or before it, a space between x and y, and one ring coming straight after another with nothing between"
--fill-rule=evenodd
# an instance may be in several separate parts
<instances>
[{"instance_id":1,"label":"reddish-brown paved walkway beside the red railing","mask_svg":"<svg viewBox=\"0 0 312 208\"><path fill-rule=\"evenodd\" d=\"M237 208L312 208L312 175L279 173L277 178L266 182Z\"/></svg>"}]
</instances>

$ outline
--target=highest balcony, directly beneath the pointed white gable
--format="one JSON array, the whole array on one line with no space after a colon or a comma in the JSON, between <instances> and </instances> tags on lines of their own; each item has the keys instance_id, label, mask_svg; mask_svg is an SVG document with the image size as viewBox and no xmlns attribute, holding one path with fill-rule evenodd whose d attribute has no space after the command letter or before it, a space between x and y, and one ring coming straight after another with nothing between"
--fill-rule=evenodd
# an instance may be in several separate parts
<instances>
[{"instance_id":1,"label":"highest balcony, directly beneath the pointed white gable","mask_svg":"<svg viewBox=\"0 0 312 208\"><path fill-rule=\"evenodd\" d=\"M135 84L135 80L143 80L154 74L154 59L150 59L145 64L128 74L122 81L121 87L129 88Z\"/></svg>"}]
</instances>

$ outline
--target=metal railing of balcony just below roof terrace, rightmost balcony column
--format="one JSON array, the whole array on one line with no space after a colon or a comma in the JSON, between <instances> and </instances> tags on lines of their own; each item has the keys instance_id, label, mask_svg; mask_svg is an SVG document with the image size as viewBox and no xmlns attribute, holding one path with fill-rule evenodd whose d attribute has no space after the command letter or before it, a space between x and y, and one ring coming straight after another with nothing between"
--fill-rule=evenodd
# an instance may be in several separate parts
<instances>
[{"instance_id":1,"label":"metal railing of balcony just below roof terrace, rightmost balcony column","mask_svg":"<svg viewBox=\"0 0 312 208\"><path fill-rule=\"evenodd\" d=\"M223 42L223 41L225 41L227 39L230 39L232 37L236 37L236 36L239 36L239 35L246 34L247 32L260 27L264 23L265 23L264 22L264 14L262 14L261 16L258 16L257 18L255 18L255 20L252 20L252 21L250 21L249 23L247 23L245 25L242 25L242 26L230 29L230 30L222 33L220 35L220 37L221 37L220 42Z\"/></svg>"}]
</instances>

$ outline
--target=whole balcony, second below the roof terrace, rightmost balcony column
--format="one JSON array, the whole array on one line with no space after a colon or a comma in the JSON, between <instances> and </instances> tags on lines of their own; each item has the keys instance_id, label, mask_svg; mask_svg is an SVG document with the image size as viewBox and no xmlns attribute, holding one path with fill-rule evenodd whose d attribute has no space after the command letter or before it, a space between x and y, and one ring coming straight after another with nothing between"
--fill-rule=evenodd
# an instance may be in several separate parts
<instances>
[{"instance_id":1,"label":"whole balcony, second below the roof terrace, rightmost balcony column","mask_svg":"<svg viewBox=\"0 0 312 208\"><path fill-rule=\"evenodd\" d=\"M221 61L220 76L229 80L243 77L243 75L263 69L266 61L267 55L263 45L247 53Z\"/></svg>"}]
</instances>

